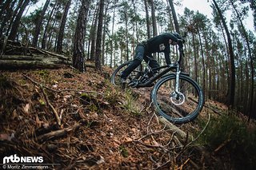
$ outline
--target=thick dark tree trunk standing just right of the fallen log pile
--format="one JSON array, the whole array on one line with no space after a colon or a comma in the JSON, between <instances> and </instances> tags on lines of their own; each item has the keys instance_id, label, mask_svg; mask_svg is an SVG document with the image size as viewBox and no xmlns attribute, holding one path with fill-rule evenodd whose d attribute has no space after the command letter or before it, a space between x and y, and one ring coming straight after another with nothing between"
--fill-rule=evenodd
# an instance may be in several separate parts
<instances>
[{"instance_id":1,"label":"thick dark tree trunk standing just right of the fallen log pile","mask_svg":"<svg viewBox=\"0 0 256 170\"><path fill-rule=\"evenodd\" d=\"M86 18L89 10L90 0L82 0L78 14L77 26L74 34L73 66L81 72L86 71L85 67L85 30Z\"/></svg>"}]
</instances>

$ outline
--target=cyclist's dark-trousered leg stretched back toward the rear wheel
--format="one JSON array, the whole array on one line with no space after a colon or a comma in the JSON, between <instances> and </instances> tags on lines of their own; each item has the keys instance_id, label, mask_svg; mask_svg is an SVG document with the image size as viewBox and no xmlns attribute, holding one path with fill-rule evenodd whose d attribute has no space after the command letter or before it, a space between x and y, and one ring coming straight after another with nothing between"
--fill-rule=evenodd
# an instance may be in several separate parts
<instances>
[{"instance_id":1,"label":"cyclist's dark-trousered leg stretched back toward the rear wheel","mask_svg":"<svg viewBox=\"0 0 256 170\"><path fill-rule=\"evenodd\" d=\"M142 45L138 45L135 49L135 57L134 60L130 63L130 65L123 70L121 78L126 80L129 74L138 67L142 63L143 55L144 55L145 48Z\"/></svg>"}]
</instances>

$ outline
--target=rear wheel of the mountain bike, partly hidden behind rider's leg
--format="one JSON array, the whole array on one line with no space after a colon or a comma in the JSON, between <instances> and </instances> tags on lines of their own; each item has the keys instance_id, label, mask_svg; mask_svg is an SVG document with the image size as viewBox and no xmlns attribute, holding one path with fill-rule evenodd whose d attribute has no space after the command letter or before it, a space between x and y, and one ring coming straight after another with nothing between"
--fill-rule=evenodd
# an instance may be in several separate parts
<instances>
[{"instance_id":1,"label":"rear wheel of the mountain bike, partly hidden behind rider's leg","mask_svg":"<svg viewBox=\"0 0 256 170\"><path fill-rule=\"evenodd\" d=\"M130 65L131 61L127 61L123 63L122 65L118 66L117 69L114 70L114 72L111 75L111 83L113 85L122 86L121 83L121 74L122 72ZM138 79L142 75L142 65L139 65L136 69L134 69L130 75L127 77L128 81ZM129 83L129 82L128 82Z\"/></svg>"}]
</instances>

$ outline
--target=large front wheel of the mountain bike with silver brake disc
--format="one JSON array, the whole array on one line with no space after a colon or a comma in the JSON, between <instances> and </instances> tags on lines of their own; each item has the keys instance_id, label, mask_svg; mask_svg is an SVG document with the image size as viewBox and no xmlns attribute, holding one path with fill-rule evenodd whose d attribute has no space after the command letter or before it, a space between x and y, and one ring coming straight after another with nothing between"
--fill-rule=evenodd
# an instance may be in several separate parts
<instances>
[{"instance_id":1,"label":"large front wheel of the mountain bike with silver brake disc","mask_svg":"<svg viewBox=\"0 0 256 170\"><path fill-rule=\"evenodd\" d=\"M193 121L201 112L204 97L198 83L180 74L179 90L175 91L176 76L170 74L154 85L151 100L162 117L175 124Z\"/></svg>"}]
</instances>

